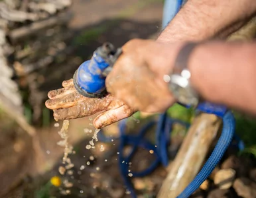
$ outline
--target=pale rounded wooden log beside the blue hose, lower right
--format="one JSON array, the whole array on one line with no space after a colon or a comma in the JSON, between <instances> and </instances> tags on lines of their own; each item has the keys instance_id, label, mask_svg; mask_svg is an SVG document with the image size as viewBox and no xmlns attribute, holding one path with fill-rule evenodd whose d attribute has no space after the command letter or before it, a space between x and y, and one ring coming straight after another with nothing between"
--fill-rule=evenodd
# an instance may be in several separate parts
<instances>
[{"instance_id":1,"label":"pale rounded wooden log beside the blue hose, lower right","mask_svg":"<svg viewBox=\"0 0 256 198\"><path fill-rule=\"evenodd\" d=\"M214 115L196 116L157 197L174 198L194 179L216 137L220 123L221 120Z\"/></svg>"}]
</instances>

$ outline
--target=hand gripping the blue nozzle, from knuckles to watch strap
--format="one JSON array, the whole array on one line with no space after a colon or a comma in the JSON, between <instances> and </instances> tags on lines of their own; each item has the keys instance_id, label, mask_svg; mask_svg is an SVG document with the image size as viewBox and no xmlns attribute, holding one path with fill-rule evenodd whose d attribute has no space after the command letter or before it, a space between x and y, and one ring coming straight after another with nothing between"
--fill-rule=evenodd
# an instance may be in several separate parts
<instances>
[{"instance_id":1,"label":"hand gripping the blue nozzle, from knuckles to watch strap","mask_svg":"<svg viewBox=\"0 0 256 198\"><path fill-rule=\"evenodd\" d=\"M172 71L176 47L151 40L129 41L107 76L107 92L135 110L154 113L168 109L174 98L164 75Z\"/></svg>"}]
</instances>

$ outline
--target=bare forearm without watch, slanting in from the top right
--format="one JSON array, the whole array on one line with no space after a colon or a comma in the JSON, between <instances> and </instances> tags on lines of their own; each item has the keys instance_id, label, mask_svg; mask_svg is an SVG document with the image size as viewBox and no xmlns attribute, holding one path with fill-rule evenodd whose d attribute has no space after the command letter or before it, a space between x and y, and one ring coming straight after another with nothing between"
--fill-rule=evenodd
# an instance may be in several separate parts
<instances>
[{"instance_id":1,"label":"bare forearm without watch, slanting in from the top right","mask_svg":"<svg viewBox=\"0 0 256 198\"><path fill-rule=\"evenodd\" d=\"M198 41L214 36L225 38L255 13L255 0L188 0L157 41Z\"/></svg>"}]
</instances>

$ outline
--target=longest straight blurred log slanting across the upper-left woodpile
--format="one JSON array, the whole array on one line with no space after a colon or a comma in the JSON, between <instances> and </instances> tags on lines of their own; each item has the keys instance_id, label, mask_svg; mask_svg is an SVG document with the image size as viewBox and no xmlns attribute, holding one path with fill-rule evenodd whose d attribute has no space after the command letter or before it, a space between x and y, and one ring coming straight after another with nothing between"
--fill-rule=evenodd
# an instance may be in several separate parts
<instances>
[{"instance_id":1,"label":"longest straight blurred log slanting across the upper-left woodpile","mask_svg":"<svg viewBox=\"0 0 256 198\"><path fill-rule=\"evenodd\" d=\"M12 43L15 43L21 39L25 39L32 34L36 34L36 32L45 29L45 28L50 28L55 25L61 25L61 24L66 24L69 20L72 18L72 13L67 12L67 13L61 13L60 15L57 16L51 16L50 18L47 18L42 21L38 22L33 22L29 26L23 26L21 28L17 28L15 30L12 30L9 32L9 38Z\"/></svg>"}]
</instances>

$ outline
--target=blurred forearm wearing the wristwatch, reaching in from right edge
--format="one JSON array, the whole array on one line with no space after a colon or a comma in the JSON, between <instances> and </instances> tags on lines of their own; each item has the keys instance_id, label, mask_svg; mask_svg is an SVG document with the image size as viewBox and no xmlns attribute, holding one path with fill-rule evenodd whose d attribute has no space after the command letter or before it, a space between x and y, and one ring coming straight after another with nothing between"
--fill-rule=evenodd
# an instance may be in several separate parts
<instances>
[{"instance_id":1,"label":"blurred forearm wearing the wristwatch, reaching in from right edge","mask_svg":"<svg viewBox=\"0 0 256 198\"><path fill-rule=\"evenodd\" d=\"M191 82L210 102L256 114L256 42L198 46L188 67Z\"/></svg>"}]
</instances>

